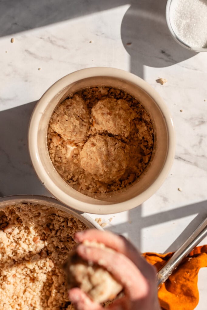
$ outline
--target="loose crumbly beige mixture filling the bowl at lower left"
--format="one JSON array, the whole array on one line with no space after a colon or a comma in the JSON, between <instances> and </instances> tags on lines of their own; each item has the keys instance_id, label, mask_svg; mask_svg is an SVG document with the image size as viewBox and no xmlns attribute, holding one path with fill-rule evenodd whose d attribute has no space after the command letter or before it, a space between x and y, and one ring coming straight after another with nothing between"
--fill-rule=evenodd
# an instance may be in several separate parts
<instances>
[{"instance_id":1,"label":"loose crumbly beige mixture filling the bowl at lower left","mask_svg":"<svg viewBox=\"0 0 207 310\"><path fill-rule=\"evenodd\" d=\"M0 309L74 310L61 264L75 232L87 227L66 212L18 204L0 211Z\"/></svg>"}]
</instances>

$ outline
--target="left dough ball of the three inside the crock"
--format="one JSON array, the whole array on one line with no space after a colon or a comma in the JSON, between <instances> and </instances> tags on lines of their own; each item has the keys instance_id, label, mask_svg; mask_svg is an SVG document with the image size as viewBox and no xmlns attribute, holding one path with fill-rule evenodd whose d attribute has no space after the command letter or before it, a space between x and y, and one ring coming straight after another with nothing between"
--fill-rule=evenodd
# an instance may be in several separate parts
<instances>
[{"instance_id":1,"label":"left dough ball of the three inside the crock","mask_svg":"<svg viewBox=\"0 0 207 310\"><path fill-rule=\"evenodd\" d=\"M89 130L89 111L85 101L78 95L64 100L52 115L50 126L64 140L75 143L85 139Z\"/></svg>"}]
</instances>

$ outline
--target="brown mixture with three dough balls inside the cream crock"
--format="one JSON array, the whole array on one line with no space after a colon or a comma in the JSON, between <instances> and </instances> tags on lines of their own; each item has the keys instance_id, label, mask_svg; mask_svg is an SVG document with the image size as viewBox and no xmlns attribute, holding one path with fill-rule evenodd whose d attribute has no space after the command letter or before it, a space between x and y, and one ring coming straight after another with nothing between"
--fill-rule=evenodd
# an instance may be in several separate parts
<instances>
[{"instance_id":1,"label":"brown mixture with three dough balls inside the cream crock","mask_svg":"<svg viewBox=\"0 0 207 310\"><path fill-rule=\"evenodd\" d=\"M59 175L78 191L109 193L134 182L150 162L154 131L131 95L85 88L58 105L48 126L48 150Z\"/></svg>"}]
</instances>

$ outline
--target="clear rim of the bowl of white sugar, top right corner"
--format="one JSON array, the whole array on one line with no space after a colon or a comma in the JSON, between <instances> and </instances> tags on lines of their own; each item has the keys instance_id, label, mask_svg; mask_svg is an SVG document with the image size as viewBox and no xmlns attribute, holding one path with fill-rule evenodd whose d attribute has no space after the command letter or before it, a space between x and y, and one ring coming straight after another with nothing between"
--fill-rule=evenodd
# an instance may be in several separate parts
<instances>
[{"instance_id":1,"label":"clear rim of the bowl of white sugar, top right corner","mask_svg":"<svg viewBox=\"0 0 207 310\"><path fill-rule=\"evenodd\" d=\"M174 40L180 44L182 47L185 47L187 50L190 50L190 51L194 51L194 52L207 52L207 48L203 48L203 47L191 47L190 45L187 45L185 42L183 42L178 36L177 34L174 32L173 30L173 27L172 27L172 24L170 22L170 5L171 5L171 2L173 0L168 0L167 1L167 4L166 4L166 10L165 10L165 16L166 16L166 21L167 21L167 25L168 25L168 29L172 35L172 37L174 38Z\"/></svg>"}]
</instances>

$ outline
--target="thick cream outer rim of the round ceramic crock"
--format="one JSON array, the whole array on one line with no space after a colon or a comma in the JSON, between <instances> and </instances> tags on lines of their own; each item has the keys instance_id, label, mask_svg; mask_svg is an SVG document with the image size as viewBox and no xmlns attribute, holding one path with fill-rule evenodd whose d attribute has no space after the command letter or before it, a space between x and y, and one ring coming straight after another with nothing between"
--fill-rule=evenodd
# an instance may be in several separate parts
<instances>
[{"instance_id":1,"label":"thick cream outer rim of the round ceramic crock","mask_svg":"<svg viewBox=\"0 0 207 310\"><path fill-rule=\"evenodd\" d=\"M39 126L39 121L41 119L41 115L44 111L44 108L47 107L48 103L52 98L58 94L62 89L67 87L73 82L84 78L90 78L95 76L108 76L113 78L119 78L123 80L127 80L142 90L144 90L158 105L163 117L165 118L166 128L168 132L168 153L165 159L165 163L163 164L163 168L160 171L159 175L155 179L154 183L152 183L149 188L147 188L144 192L139 194L136 197L133 197L127 201L119 202L119 203L110 203L110 204L90 204L87 202L79 201L69 195L67 195L64 191L58 188L50 177L47 174L47 171L44 170L44 166L42 165L39 155L38 155L38 143L37 143L37 128ZM44 181L47 183L47 189L52 193L59 201L64 203L71 208L83 212L93 213L93 214L114 214L122 211L130 210L139 206L141 203L150 198L158 188L163 184L166 179L169 170L173 164L174 155L175 155L175 130L173 126L172 117L168 110L167 105L164 103L163 99L160 95L154 90L152 86L150 86L143 79L139 78L133 73L124 71L122 69L109 68L109 67L93 67L93 68L85 68L75 72L72 72L63 78L59 79L55 82L48 90L44 93L44 95L40 98L38 103L36 104L33 113L30 118L29 124L29 132L28 132L28 144L29 144L29 153L30 158L34 167L36 174L38 175L40 181L44 184Z\"/></svg>"}]
</instances>

